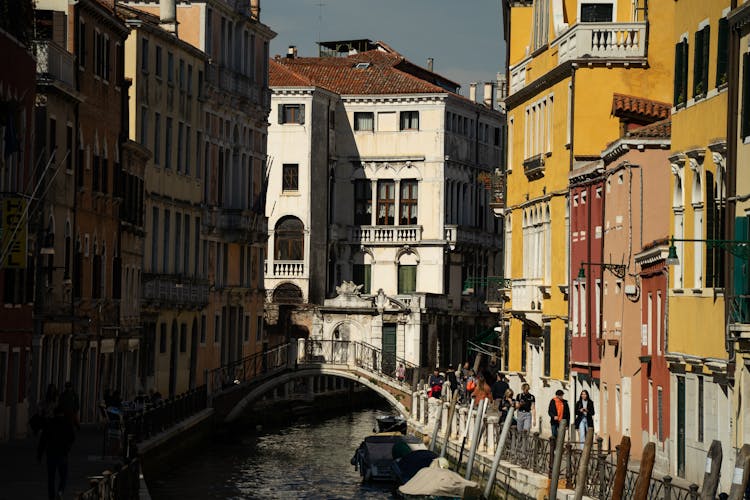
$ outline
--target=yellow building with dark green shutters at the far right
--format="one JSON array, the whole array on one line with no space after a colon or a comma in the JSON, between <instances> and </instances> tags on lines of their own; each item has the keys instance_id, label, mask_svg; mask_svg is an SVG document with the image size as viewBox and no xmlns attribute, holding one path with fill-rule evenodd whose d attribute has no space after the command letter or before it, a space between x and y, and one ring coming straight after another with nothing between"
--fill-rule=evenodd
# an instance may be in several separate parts
<instances>
[{"instance_id":1,"label":"yellow building with dark green shutters at the far right","mask_svg":"<svg viewBox=\"0 0 750 500\"><path fill-rule=\"evenodd\" d=\"M666 307L673 430L669 472L699 482L712 440L721 441L725 457L734 456L724 336L727 254L705 241L724 239L730 0L678 0L674 7L669 161L671 232L679 264L669 268ZM731 462L723 464L722 490L730 484Z\"/></svg>"}]
</instances>

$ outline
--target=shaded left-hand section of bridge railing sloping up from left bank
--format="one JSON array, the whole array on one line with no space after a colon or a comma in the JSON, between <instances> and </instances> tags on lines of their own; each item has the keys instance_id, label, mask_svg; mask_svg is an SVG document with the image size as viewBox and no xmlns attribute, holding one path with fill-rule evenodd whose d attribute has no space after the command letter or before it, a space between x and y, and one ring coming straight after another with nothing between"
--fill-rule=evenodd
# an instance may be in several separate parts
<instances>
[{"instance_id":1,"label":"shaded left-hand section of bridge railing sloping up from left bank","mask_svg":"<svg viewBox=\"0 0 750 500\"><path fill-rule=\"evenodd\" d=\"M290 361L289 351L289 343L281 344L273 349L251 354L209 371L206 376L209 394L221 392L287 368Z\"/></svg>"}]
</instances>

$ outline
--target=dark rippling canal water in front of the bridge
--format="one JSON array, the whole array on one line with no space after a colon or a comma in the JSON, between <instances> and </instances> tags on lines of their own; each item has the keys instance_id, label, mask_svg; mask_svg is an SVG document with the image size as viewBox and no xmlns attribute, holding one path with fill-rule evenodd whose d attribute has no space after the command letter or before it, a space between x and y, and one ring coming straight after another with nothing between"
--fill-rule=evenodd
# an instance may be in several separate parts
<instances>
[{"instance_id":1,"label":"dark rippling canal water in front of the bridge","mask_svg":"<svg viewBox=\"0 0 750 500\"><path fill-rule=\"evenodd\" d=\"M385 412L304 417L212 443L158 478L147 477L149 492L153 500L395 498L391 485L363 484L349 462Z\"/></svg>"}]
</instances>

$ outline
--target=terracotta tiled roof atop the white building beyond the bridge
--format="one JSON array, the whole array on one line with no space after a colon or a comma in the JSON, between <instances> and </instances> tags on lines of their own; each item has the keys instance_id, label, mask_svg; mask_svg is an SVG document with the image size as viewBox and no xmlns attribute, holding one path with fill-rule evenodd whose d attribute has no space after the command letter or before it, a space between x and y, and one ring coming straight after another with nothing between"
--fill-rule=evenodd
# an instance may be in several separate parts
<instances>
[{"instance_id":1,"label":"terracotta tiled roof atop the white building beyond the bridge","mask_svg":"<svg viewBox=\"0 0 750 500\"><path fill-rule=\"evenodd\" d=\"M270 66L271 86L315 85L344 95L447 92L438 85L402 71L397 66L404 62L403 56L382 50L370 50L348 57L277 58L274 62ZM369 65L358 68L358 63ZM295 80L298 83L294 83ZM299 83L303 81L306 83Z\"/></svg>"}]
</instances>

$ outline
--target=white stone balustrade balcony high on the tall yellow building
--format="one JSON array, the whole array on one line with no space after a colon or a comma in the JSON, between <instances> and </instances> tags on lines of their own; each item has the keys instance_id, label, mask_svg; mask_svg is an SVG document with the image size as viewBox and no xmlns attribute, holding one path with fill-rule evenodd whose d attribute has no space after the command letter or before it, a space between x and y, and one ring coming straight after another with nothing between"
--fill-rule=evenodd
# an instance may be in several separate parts
<instances>
[{"instance_id":1,"label":"white stone balustrade balcony high on the tall yellow building","mask_svg":"<svg viewBox=\"0 0 750 500\"><path fill-rule=\"evenodd\" d=\"M557 41L557 62L646 57L646 23L580 23Z\"/></svg>"}]
</instances>

